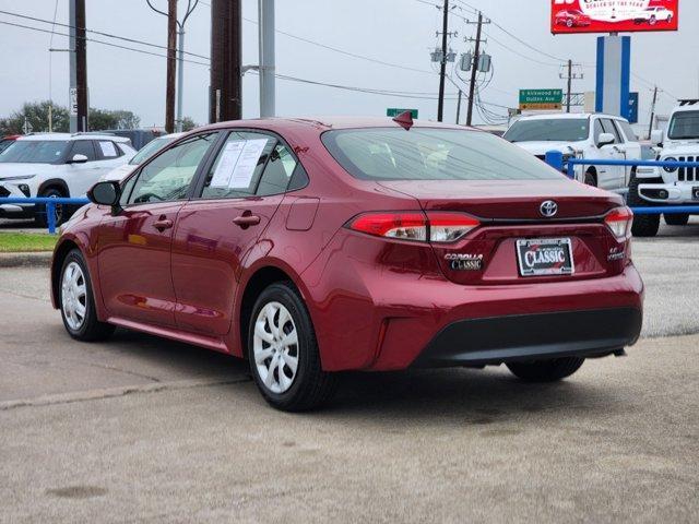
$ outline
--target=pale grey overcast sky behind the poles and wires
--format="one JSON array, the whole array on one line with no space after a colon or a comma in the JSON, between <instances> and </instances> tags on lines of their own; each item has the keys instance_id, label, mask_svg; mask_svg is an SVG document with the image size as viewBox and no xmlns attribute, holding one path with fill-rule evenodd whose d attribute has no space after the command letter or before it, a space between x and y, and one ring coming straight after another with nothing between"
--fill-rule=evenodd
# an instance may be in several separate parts
<instances>
[{"instance_id":1,"label":"pale grey overcast sky behind the poles and wires","mask_svg":"<svg viewBox=\"0 0 699 524\"><path fill-rule=\"evenodd\" d=\"M68 0L0 0L0 10L68 23ZM151 11L145 0L87 0L87 27L150 43L166 44L166 20ZM166 9L166 0L154 0ZM257 63L257 0L244 0L244 63ZM425 93L438 91L438 76L433 71L429 50L437 45L436 31L441 27L441 12L433 0L276 0L279 31L331 46L344 51L390 62L419 71L382 66L315 46L284 34L277 34L277 73L324 83L392 92ZM452 2L454 3L454 2ZM459 16L473 19L469 8ZM556 58L571 58L583 64L584 80L576 81L573 91L594 90L595 35L552 36L548 0L467 0L483 9L487 16L532 47ZM187 2L179 1L180 9ZM187 23L187 50L210 55L210 0L200 1ZM50 29L50 24L21 20L0 13L0 21ZM475 33L461 17L452 16L451 31L459 36L451 47L465 51L471 44L465 36ZM648 122L651 87L656 83L664 93L659 111L668 112L676 97L699 97L699 2L680 1L678 33L636 34L632 37L632 91L641 94L640 120ZM66 27L56 26L58 34ZM491 35L485 49L493 56L495 74L482 93L491 104L513 107L520 88L564 87L557 60L525 47L494 24L486 26ZM68 47L68 38L55 35L54 48ZM162 53L156 48L110 40L98 35L91 38L139 47ZM57 104L68 104L68 55L54 52L49 75L49 43L51 36L0 24L2 66L0 75L0 116L17 109L23 102L47 99L49 78ZM511 50L506 49L505 46ZM517 51L516 55L512 51ZM200 58L189 57L202 61ZM535 61L534 61L535 60ZM540 63L543 62L543 63ZM130 50L87 45L87 72L91 106L106 109L130 109L141 117L143 126L162 126L165 100L165 59ZM185 115L199 123L206 122L209 70L205 66L185 67ZM464 84L464 88L466 88ZM450 99L446 120L455 117L457 88L448 84ZM277 81L277 114L291 115L384 115L387 107L411 107L420 118L436 118L434 99L400 98L366 94L308 84ZM489 108L498 114L506 110ZM258 79L248 74L244 81L244 116L257 117ZM462 119L465 118L462 114Z\"/></svg>"}]
</instances>

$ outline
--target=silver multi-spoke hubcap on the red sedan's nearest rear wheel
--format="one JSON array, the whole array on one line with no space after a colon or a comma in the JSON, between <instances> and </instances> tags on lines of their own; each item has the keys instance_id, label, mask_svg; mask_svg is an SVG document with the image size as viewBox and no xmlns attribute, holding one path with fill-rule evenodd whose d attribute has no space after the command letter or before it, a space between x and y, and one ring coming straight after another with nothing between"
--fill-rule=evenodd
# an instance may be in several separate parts
<instances>
[{"instance_id":1,"label":"silver multi-spoke hubcap on the red sedan's nearest rear wheel","mask_svg":"<svg viewBox=\"0 0 699 524\"><path fill-rule=\"evenodd\" d=\"M264 386L284 393L298 369L298 335L292 313L280 302L269 302L254 322L254 365Z\"/></svg>"}]
</instances>

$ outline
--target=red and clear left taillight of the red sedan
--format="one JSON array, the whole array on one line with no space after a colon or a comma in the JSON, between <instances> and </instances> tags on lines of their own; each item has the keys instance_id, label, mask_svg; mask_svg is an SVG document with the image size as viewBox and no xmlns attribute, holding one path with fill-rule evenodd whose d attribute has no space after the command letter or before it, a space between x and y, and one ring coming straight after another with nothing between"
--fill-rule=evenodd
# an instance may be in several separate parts
<instances>
[{"instance_id":1,"label":"red and clear left taillight of the red sedan","mask_svg":"<svg viewBox=\"0 0 699 524\"><path fill-rule=\"evenodd\" d=\"M462 213L365 213L347 227L355 231L396 240L449 243L464 237L479 222Z\"/></svg>"}]
</instances>

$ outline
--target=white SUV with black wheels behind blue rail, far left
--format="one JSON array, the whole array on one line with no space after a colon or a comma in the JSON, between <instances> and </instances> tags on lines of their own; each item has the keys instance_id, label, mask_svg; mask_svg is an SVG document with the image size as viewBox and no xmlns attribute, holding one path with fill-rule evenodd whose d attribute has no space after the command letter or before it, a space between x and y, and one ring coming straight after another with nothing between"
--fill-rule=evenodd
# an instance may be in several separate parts
<instances>
[{"instance_id":1,"label":"white SUV with black wheels behind blue rail, far left","mask_svg":"<svg viewBox=\"0 0 699 524\"><path fill-rule=\"evenodd\" d=\"M129 139L47 133L22 136L0 154L0 196L83 196L99 178L135 155ZM57 223L68 218L57 206ZM46 225L43 205L1 204L2 218L34 217Z\"/></svg>"}]
</instances>

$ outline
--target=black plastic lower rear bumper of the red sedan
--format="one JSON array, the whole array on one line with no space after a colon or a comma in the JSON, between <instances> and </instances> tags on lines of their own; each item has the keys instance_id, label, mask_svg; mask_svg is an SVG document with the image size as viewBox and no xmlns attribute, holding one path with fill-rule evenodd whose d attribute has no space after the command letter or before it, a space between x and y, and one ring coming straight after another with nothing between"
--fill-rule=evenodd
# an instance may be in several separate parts
<instances>
[{"instance_id":1,"label":"black plastic lower rear bumper of the red sedan","mask_svg":"<svg viewBox=\"0 0 699 524\"><path fill-rule=\"evenodd\" d=\"M635 308L461 320L442 329L413 366L601 357L636 343L642 321L642 312Z\"/></svg>"}]
</instances>

